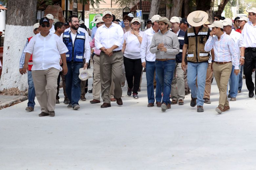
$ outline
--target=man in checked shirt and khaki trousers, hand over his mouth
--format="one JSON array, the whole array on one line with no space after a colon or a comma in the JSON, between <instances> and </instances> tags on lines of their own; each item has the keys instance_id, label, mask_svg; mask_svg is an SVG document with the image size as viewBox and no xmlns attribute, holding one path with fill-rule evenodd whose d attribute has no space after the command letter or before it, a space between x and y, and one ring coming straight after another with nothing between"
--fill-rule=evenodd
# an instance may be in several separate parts
<instances>
[{"instance_id":1,"label":"man in checked shirt and khaki trousers, hand over his mouth","mask_svg":"<svg viewBox=\"0 0 256 170\"><path fill-rule=\"evenodd\" d=\"M214 49L212 69L220 92L219 106L215 110L218 113L222 113L230 109L226 92L227 83L232 71L232 61L234 62L234 73L236 75L240 72L239 61L235 42L229 35L223 32L223 23L221 21L214 21L212 25L208 26L212 28L212 31L204 46L204 50L210 51L212 48Z\"/></svg>"}]
</instances>

